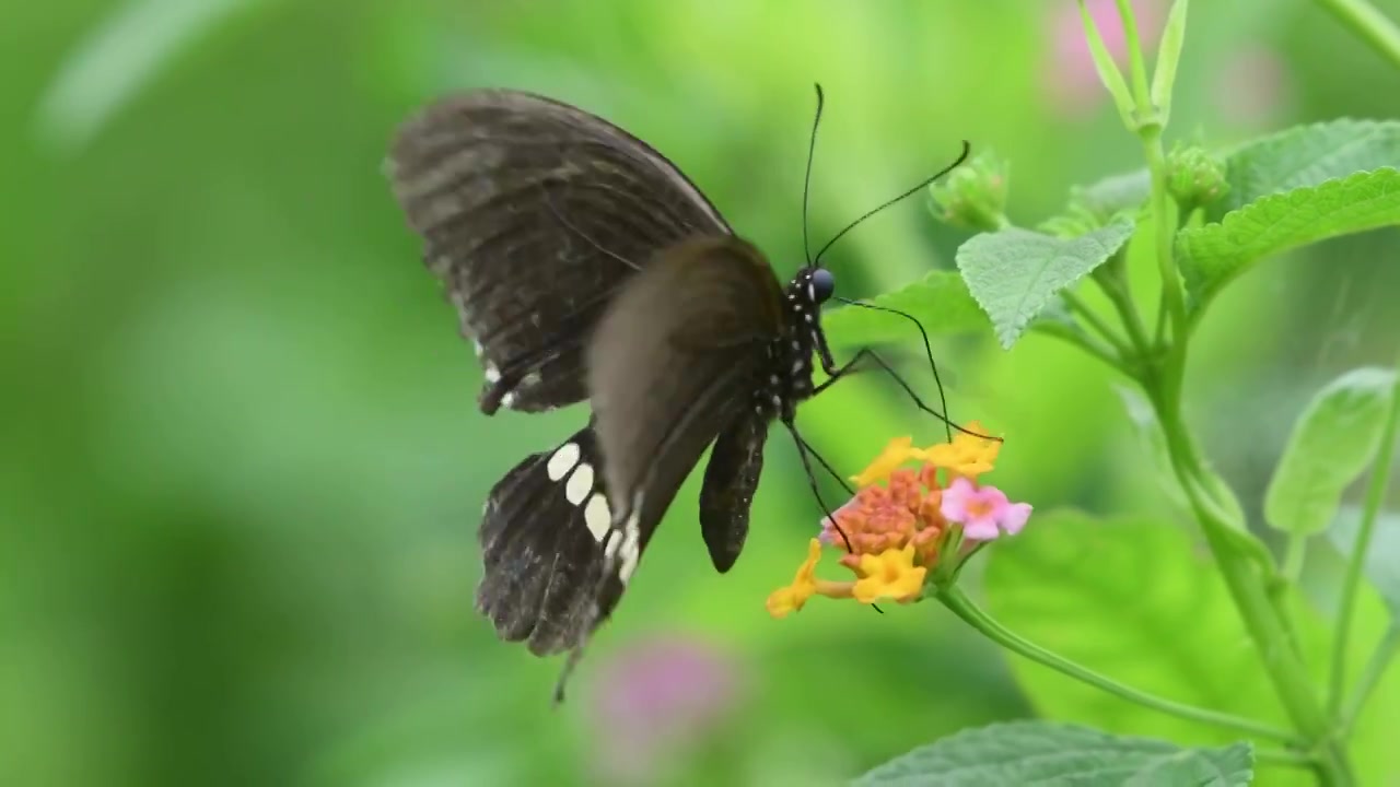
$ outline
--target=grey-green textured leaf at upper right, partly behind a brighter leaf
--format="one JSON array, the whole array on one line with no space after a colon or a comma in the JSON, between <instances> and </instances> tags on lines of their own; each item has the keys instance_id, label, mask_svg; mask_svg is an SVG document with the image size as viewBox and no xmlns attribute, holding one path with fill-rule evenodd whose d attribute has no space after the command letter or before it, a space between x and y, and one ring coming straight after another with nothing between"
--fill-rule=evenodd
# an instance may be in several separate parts
<instances>
[{"instance_id":1,"label":"grey-green textured leaf at upper right, partly behind a brighter leaf","mask_svg":"<svg viewBox=\"0 0 1400 787\"><path fill-rule=\"evenodd\" d=\"M1211 220L1260 197L1400 164L1400 122L1341 119L1298 126L1229 151L1229 193Z\"/></svg>"}]
</instances>

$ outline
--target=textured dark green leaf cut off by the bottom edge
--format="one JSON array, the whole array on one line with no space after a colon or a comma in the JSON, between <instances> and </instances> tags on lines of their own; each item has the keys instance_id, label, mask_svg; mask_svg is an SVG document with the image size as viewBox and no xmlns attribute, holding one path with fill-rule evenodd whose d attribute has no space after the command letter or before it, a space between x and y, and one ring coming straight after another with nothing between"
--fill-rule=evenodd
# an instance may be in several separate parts
<instances>
[{"instance_id":1,"label":"textured dark green leaf cut off by the bottom edge","mask_svg":"<svg viewBox=\"0 0 1400 787\"><path fill-rule=\"evenodd\" d=\"M1182 748L1051 721L1012 721L967 730L917 748L857 786L1019 787L1022 784L1190 784L1233 787L1254 779L1247 742Z\"/></svg>"}]
</instances>

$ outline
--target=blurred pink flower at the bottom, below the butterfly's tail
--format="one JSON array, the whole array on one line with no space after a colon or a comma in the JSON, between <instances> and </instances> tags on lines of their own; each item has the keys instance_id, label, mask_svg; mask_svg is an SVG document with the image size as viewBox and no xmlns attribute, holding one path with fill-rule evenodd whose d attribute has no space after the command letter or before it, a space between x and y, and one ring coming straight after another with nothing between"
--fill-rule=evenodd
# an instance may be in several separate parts
<instances>
[{"instance_id":1,"label":"blurred pink flower at the bottom, below the butterfly's tail","mask_svg":"<svg viewBox=\"0 0 1400 787\"><path fill-rule=\"evenodd\" d=\"M678 752L703 744L736 709L736 661L699 639L655 639L616 654L592 692L599 776L652 784Z\"/></svg>"}]
</instances>

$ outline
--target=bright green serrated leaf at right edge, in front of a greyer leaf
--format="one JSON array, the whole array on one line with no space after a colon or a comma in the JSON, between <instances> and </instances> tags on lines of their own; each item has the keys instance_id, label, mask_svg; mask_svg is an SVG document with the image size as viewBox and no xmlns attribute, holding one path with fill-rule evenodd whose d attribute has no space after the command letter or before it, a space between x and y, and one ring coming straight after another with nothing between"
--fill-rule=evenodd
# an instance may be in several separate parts
<instances>
[{"instance_id":1,"label":"bright green serrated leaf at right edge, in front of a greyer leaf","mask_svg":"<svg viewBox=\"0 0 1400 787\"><path fill-rule=\"evenodd\" d=\"M1183 230L1176 251L1204 304L1261 258L1327 238L1400 224L1400 171L1375 169L1261 197L1224 221Z\"/></svg>"}]
</instances>

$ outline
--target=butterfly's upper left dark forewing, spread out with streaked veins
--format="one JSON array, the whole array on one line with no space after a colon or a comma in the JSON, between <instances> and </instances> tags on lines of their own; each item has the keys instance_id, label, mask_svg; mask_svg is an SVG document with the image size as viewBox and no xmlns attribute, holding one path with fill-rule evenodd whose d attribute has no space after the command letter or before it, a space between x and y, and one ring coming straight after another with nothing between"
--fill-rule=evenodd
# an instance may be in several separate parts
<instances>
[{"instance_id":1,"label":"butterfly's upper left dark forewing, spread out with streaked veins","mask_svg":"<svg viewBox=\"0 0 1400 787\"><path fill-rule=\"evenodd\" d=\"M655 253L727 235L665 157L581 109L517 91L444 99L400 129L393 190L486 371L480 406L587 398L582 347Z\"/></svg>"}]
</instances>

